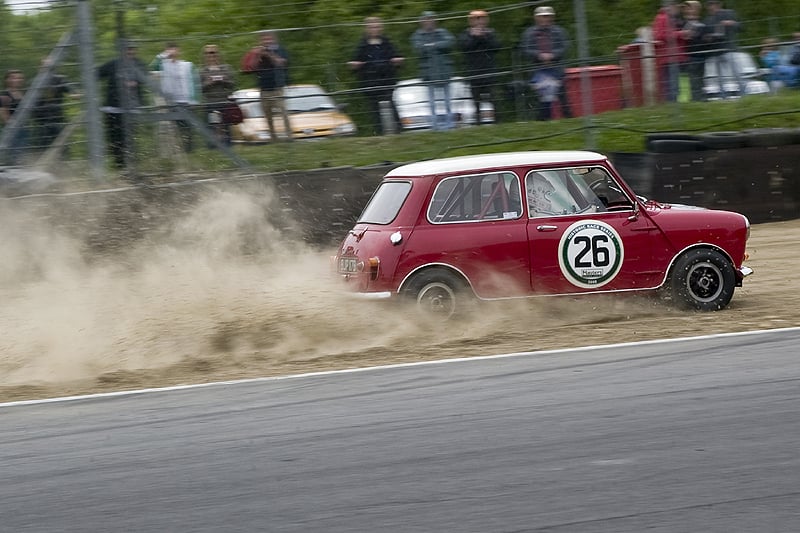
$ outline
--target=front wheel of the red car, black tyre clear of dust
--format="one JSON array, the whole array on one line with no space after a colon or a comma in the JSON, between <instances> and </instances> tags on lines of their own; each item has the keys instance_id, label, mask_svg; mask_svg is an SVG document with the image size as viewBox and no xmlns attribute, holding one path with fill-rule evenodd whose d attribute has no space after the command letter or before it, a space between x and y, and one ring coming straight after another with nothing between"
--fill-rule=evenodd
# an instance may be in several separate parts
<instances>
[{"instance_id":1,"label":"front wheel of the red car, black tyre clear of dust","mask_svg":"<svg viewBox=\"0 0 800 533\"><path fill-rule=\"evenodd\" d=\"M736 274L714 250L691 250L678 258L670 276L672 299L683 307L717 311L731 301Z\"/></svg>"}]
</instances>

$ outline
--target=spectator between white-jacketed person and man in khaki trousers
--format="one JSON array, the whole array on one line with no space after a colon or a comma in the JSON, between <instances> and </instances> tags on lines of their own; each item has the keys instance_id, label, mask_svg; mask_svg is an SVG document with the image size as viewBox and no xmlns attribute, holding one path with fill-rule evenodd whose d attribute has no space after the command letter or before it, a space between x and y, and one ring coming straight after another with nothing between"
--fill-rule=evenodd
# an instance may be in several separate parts
<instances>
[{"instance_id":1,"label":"spectator between white-jacketed person and man in khaki trousers","mask_svg":"<svg viewBox=\"0 0 800 533\"><path fill-rule=\"evenodd\" d=\"M208 122L220 142L230 144L231 124L228 110L236 106L229 96L236 88L233 69L222 62L219 46L207 44L203 47L203 68L200 70L200 86L208 112Z\"/></svg>"}]
</instances>

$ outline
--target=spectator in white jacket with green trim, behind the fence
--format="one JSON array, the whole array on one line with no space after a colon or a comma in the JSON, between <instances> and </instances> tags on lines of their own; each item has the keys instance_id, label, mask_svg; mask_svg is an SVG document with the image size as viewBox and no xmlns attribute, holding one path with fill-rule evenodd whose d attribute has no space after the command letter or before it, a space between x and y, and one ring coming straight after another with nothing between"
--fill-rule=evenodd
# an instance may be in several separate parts
<instances>
[{"instance_id":1,"label":"spectator in white jacket with green trim, behind the fence","mask_svg":"<svg viewBox=\"0 0 800 533\"><path fill-rule=\"evenodd\" d=\"M188 113L188 106L197 104L197 70L190 61L181 59L181 49L177 44L168 43L164 51L150 63L150 70L161 73L161 94L173 110L182 109ZM184 151L191 152L191 123L188 120L176 120L175 125Z\"/></svg>"}]
</instances>

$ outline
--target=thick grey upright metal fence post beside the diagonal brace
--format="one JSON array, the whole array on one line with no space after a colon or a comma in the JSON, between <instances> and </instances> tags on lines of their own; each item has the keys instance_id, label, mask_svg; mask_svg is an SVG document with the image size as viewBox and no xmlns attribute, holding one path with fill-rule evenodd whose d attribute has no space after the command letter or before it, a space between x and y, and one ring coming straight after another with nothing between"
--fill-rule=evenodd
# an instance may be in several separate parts
<instances>
[{"instance_id":1,"label":"thick grey upright metal fence post beside the diagonal brace","mask_svg":"<svg viewBox=\"0 0 800 533\"><path fill-rule=\"evenodd\" d=\"M95 182L103 177L105 145L100 121L98 81L94 71L94 30L88 0L78 0L78 53L81 63L86 113L86 138L89 143L89 169Z\"/></svg>"}]
</instances>

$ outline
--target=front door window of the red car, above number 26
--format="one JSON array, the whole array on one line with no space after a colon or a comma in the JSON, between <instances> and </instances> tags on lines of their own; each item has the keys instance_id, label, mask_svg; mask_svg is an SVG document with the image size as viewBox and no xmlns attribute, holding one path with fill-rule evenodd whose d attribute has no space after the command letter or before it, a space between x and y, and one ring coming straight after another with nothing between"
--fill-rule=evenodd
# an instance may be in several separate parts
<instances>
[{"instance_id":1,"label":"front door window of the red car, above number 26","mask_svg":"<svg viewBox=\"0 0 800 533\"><path fill-rule=\"evenodd\" d=\"M601 167L538 170L525 177L530 217L632 209L623 188Z\"/></svg>"}]
</instances>

